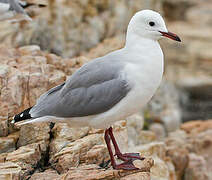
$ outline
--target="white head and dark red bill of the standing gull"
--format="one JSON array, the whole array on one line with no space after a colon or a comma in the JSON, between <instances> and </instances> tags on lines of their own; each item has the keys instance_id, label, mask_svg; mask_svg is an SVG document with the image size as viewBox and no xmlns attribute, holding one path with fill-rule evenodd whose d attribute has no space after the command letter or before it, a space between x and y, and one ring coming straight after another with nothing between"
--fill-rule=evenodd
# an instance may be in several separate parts
<instances>
[{"instance_id":1,"label":"white head and dark red bill of the standing gull","mask_svg":"<svg viewBox=\"0 0 212 180\"><path fill-rule=\"evenodd\" d=\"M163 37L181 42L180 38L167 30L162 16L152 10L137 12L130 20L128 33L136 34L139 37L152 40L159 40Z\"/></svg>"}]
</instances>

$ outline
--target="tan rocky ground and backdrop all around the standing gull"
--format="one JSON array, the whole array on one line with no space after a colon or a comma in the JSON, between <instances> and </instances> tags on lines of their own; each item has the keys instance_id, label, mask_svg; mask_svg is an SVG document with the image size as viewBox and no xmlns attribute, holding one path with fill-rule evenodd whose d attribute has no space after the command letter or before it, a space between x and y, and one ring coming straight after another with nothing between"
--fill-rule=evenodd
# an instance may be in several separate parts
<instances>
[{"instance_id":1,"label":"tan rocky ground and backdrop all around the standing gull","mask_svg":"<svg viewBox=\"0 0 212 180\"><path fill-rule=\"evenodd\" d=\"M0 22L0 179L211 179L211 120L177 130L183 121L212 117L211 0L42 1L47 8L27 9L33 22ZM161 41L160 89L128 128L124 121L114 127L123 152L147 157L136 163L144 172L111 170L102 130L11 125L16 113L84 63L123 47L129 19L144 8L159 10L183 40Z\"/></svg>"}]
</instances>

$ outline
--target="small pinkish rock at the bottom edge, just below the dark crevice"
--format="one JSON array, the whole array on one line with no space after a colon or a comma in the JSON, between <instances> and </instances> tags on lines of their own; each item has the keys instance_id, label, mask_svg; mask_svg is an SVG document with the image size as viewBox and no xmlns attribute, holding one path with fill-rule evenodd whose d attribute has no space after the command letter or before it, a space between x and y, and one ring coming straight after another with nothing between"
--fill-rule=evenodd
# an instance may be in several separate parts
<instances>
[{"instance_id":1,"label":"small pinkish rock at the bottom edge, just below the dark crevice","mask_svg":"<svg viewBox=\"0 0 212 180\"><path fill-rule=\"evenodd\" d=\"M47 169L44 172L36 172L31 177L30 180L60 180L61 176L52 169Z\"/></svg>"}]
</instances>

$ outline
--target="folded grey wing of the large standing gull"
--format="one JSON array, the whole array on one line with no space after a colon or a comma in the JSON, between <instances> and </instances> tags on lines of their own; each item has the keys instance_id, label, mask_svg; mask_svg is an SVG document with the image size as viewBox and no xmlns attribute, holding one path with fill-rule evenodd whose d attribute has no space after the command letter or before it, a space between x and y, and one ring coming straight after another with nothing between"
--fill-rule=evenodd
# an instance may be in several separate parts
<instances>
[{"instance_id":1,"label":"folded grey wing of the large standing gull","mask_svg":"<svg viewBox=\"0 0 212 180\"><path fill-rule=\"evenodd\" d=\"M129 92L130 86L120 76L121 63L94 60L74 73L31 109L34 117L82 117L111 109ZM44 97L44 96L43 96Z\"/></svg>"}]
</instances>

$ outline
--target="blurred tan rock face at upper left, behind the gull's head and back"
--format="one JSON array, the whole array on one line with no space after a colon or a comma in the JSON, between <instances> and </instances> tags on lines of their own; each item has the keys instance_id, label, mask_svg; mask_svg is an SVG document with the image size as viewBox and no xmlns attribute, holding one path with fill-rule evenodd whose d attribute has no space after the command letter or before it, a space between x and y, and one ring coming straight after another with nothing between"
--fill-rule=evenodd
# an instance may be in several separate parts
<instances>
[{"instance_id":1,"label":"blurred tan rock face at upper left, behind the gull's head and back","mask_svg":"<svg viewBox=\"0 0 212 180\"><path fill-rule=\"evenodd\" d=\"M2 22L0 40L13 46L36 44L43 50L73 57L107 37L125 32L137 10L159 9L160 4L154 0L48 1L44 10L28 8L32 23ZM31 49L36 51L34 46Z\"/></svg>"}]
</instances>

